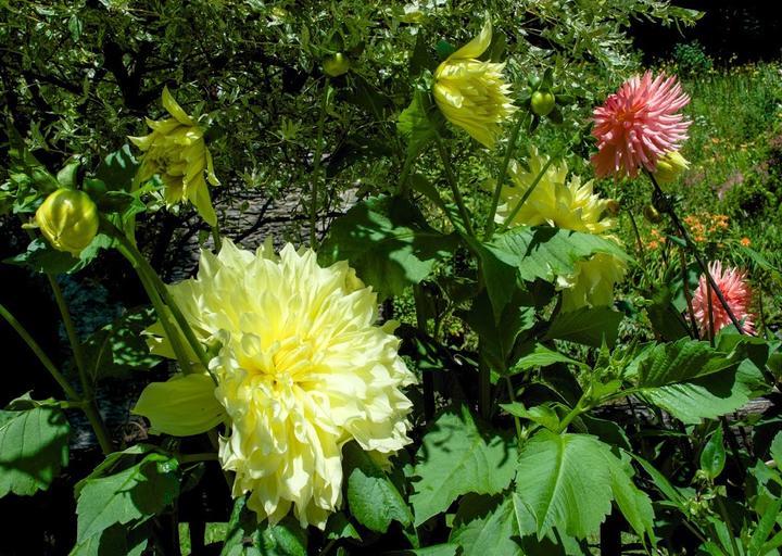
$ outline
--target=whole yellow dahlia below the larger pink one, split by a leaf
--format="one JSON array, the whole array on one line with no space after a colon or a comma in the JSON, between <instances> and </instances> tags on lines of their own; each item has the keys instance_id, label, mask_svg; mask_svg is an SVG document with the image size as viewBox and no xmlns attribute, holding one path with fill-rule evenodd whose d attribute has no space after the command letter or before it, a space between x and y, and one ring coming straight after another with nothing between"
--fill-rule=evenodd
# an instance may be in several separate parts
<instances>
[{"instance_id":1,"label":"whole yellow dahlia below the larger pink one, split by a leaf","mask_svg":"<svg viewBox=\"0 0 782 556\"><path fill-rule=\"evenodd\" d=\"M530 149L527 162L529 169L510 161L508 174L513 186L505 186L501 191L502 203L497 206L495 222L505 222L547 162L548 159L540 155L535 149ZM592 180L582 184L578 176L568 179L567 164L554 163L543 174L512 224L555 226L601 235L619 243L616 237L608 235L616 222L605 217L607 205L608 200L594 193ZM625 261L611 254L597 253L589 260L579 261L575 266L572 275L557 277L557 286L563 289L563 309L610 305L614 286L627 271Z\"/></svg>"}]
</instances>

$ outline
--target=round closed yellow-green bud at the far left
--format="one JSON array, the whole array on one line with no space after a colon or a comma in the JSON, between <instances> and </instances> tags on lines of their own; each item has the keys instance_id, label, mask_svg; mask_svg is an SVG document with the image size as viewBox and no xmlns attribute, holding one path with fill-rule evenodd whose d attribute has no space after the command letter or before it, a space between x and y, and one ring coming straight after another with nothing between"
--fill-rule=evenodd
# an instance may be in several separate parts
<instances>
[{"instance_id":1,"label":"round closed yellow-green bud at the far left","mask_svg":"<svg viewBox=\"0 0 782 556\"><path fill-rule=\"evenodd\" d=\"M58 189L38 207L36 223L54 249L78 256L98 233L98 206L84 191Z\"/></svg>"}]
</instances>

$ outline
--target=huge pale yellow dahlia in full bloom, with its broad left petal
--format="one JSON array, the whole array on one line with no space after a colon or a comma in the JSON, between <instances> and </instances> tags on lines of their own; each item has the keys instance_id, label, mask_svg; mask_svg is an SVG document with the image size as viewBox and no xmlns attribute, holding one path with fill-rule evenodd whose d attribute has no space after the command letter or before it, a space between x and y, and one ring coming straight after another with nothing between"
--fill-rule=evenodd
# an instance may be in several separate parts
<instances>
[{"instance_id":1,"label":"huge pale yellow dahlia in full bloom, with its broad left petal","mask_svg":"<svg viewBox=\"0 0 782 556\"><path fill-rule=\"evenodd\" d=\"M220 463L258 520L292 507L303 527L324 528L341 504L342 446L390 455L409 442L402 388L415 378L395 324L374 325L376 294L346 263L323 268L311 250L288 244L278 256L224 240L195 279L169 289L200 339L222 344L210 364L217 383L205 372L152 383L135 412L178 435L225 421ZM151 331L154 351L173 356L162 329Z\"/></svg>"}]
</instances>

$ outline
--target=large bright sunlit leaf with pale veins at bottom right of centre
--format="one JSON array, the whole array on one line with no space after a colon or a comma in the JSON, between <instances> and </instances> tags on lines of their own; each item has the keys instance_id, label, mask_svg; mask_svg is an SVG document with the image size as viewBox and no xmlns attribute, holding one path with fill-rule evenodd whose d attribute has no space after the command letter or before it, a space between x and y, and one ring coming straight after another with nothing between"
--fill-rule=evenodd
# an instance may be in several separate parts
<instances>
[{"instance_id":1,"label":"large bright sunlit leaf with pale veins at bottom right of centre","mask_svg":"<svg viewBox=\"0 0 782 556\"><path fill-rule=\"evenodd\" d=\"M552 528L577 539L594 534L613 500L639 534L652 530L648 497L594 437L538 432L519 456L516 493L534 516L539 539Z\"/></svg>"}]
</instances>

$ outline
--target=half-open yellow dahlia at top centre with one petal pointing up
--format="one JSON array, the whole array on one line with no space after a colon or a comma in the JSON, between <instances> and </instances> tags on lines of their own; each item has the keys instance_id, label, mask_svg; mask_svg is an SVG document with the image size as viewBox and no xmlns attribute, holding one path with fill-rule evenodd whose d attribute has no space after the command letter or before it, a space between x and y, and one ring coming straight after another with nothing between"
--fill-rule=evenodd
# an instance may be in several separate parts
<instances>
[{"instance_id":1,"label":"half-open yellow dahlia at top centre with one petal pointing up","mask_svg":"<svg viewBox=\"0 0 782 556\"><path fill-rule=\"evenodd\" d=\"M433 88L443 115L489 149L496 143L500 124L516 111L508 97L510 86L502 75L505 64L478 60L491 37L491 21L487 18L478 37L440 64Z\"/></svg>"}]
</instances>

